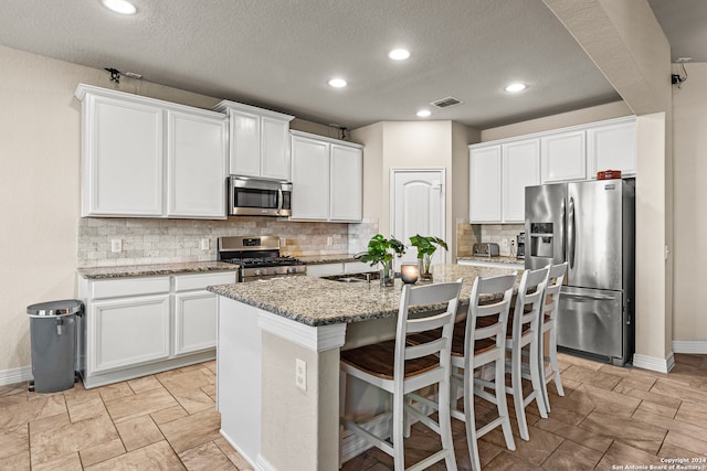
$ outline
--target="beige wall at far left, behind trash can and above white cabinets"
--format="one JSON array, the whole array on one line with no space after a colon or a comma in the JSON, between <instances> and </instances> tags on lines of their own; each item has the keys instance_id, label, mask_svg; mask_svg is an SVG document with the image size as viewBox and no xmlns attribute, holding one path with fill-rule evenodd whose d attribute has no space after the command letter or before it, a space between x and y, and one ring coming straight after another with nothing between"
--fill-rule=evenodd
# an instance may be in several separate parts
<instances>
[{"instance_id":1,"label":"beige wall at far left, behind trash can and above white cabinets","mask_svg":"<svg viewBox=\"0 0 707 471\"><path fill-rule=\"evenodd\" d=\"M27 306L76 297L81 104L76 85L211 108L219 98L0 46L0 375L28 367ZM293 121L328 135L329 128ZM10 372L8 372L10 371ZM18 377L17 381L20 381Z\"/></svg>"}]
</instances>

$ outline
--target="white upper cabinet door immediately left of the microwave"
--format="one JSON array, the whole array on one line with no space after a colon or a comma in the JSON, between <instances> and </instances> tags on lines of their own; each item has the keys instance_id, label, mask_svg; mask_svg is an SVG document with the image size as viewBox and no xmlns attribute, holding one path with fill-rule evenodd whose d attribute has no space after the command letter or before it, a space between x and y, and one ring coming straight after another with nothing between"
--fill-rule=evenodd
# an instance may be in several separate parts
<instances>
[{"instance_id":1,"label":"white upper cabinet door immediately left of the microwave","mask_svg":"<svg viewBox=\"0 0 707 471\"><path fill-rule=\"evenodd\" d=\"M168 199L171 217L225 218L225 121L168 111Z\"/></svg>"}]
</instances>

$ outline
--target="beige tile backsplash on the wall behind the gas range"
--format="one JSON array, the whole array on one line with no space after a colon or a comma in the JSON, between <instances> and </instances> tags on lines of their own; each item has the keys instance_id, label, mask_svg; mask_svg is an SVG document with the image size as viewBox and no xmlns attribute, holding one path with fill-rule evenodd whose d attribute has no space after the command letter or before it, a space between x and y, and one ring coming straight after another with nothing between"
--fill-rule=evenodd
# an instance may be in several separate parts
<instances>
[{"instance_id":1,"label":"beige tile backsplash on the wall behind the gas range","mask_svg":"<svg viewBox=\"0 0 707 471\"><path fill-rule=\"evenodd\" d=\"M352 254L366 249L378 232L378 221L359 224L289 222L270 217L225 221L97 218L78 221L77 266L105 267L217 259L217 238L236 235L276 235L282 251L292 256ZM328 238L331 245L327 245ZM201 248L201 239L209 248ZM119 239L123 250L110 250ZM360 248L362 247L362 248Z\"/></svg>"}]
</instances>

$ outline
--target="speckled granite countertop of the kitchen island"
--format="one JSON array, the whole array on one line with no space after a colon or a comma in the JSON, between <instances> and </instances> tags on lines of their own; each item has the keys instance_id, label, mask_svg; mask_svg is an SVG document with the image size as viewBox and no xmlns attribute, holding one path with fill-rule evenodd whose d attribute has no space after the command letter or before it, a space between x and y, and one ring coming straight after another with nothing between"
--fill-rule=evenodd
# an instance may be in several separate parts
<instances>
[{"instance_id":1,"label":"speckled granite countertop of the kitchen island","mask_svg":"<svg viewBox=\"0 0 707 471\"><path fill-rule=\"evenodd\" d=\"M433 265L433 282L464 278L461 303L468 304L477 276L509 275L510 268ZM518 272L517 283L521 272ZM418 285L421 285L419 281ZM398 313L402 282L381 287L379 281L340 282L313 277L210 286L209 291L307 325L327 325L389 318Z\"/></svg>"}]
</instances>

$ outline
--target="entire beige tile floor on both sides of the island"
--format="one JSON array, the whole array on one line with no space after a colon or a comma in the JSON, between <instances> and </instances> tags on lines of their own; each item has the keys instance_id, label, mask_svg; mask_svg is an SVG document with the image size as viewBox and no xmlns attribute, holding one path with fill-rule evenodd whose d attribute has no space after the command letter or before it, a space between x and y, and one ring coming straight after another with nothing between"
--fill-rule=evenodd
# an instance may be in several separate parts
<instances>
[{"instance_id":1,"label":"entire beige tile floor on both sides of the island","mask_svg":"<svg viewBox=\"0 0 707 471\"><path fill-rule=\"evenodd\" d=\"M661 458L707 457L707 355L676 354L667 375L560 357L566 396L550 387L548 419L528 406L530 441L514 425L515 452L498 429L482 438L484 469L647 469L663 464ZM220 437L214 399L214 362L88 390L2 386L0 470L250 470ZM489 410L477 402L479 421ZM435 446L433 436L413 427L409 462ZM454 438L460 470L471 469L457 420ZM344 464L345 471L390 469L392 460L374 449Z\"/></svg>"}]
</instances>

